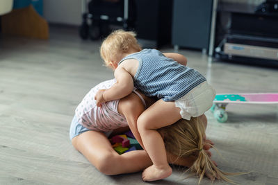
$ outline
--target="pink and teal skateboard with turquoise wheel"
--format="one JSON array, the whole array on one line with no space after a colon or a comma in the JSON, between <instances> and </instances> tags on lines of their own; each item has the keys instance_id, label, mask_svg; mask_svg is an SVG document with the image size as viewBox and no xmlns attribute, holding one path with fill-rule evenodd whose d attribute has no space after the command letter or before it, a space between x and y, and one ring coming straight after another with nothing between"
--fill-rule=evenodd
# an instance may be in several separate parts
<instances>
[{"instance_id":1,"label":"pink and teal skateboard with turquoise wheel","mask_svg":"<svg viewBox=\"0 0 278 185\"><path fill-rule=\"evenodd\" d=\"M278 93L217 94L211 111L220 123L228 119L228 114L225 112L228 103L278 104Z\"/></svg>"}]
</instances>

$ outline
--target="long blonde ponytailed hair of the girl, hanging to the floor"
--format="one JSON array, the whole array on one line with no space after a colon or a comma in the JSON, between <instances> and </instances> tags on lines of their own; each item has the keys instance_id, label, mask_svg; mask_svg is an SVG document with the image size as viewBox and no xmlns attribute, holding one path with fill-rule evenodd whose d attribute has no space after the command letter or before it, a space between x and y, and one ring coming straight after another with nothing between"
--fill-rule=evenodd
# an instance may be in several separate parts
<instances>
[{"instance_id":1,"label":"long blonde ponytailed hair of the girl, hanging to the floor","mask_svg":"<svg viewBox=\"0 0 278 185\"><path fill-rule=\"evenodd\" d=\"M244 173L226 173L218 169L213 161L203 150L203 138L205 126L199 118L191 118L190 121L181 119L176 123L158 130L164 136L165 148L168 152L177 157L197 157L193 166L188 170L199 177L199 184L205 173L213 177L213 180L223 179L226 182L235 184L226 175L240 175ZM188 171L186 170L186 171Z\"/></svg>"}]
</instances>

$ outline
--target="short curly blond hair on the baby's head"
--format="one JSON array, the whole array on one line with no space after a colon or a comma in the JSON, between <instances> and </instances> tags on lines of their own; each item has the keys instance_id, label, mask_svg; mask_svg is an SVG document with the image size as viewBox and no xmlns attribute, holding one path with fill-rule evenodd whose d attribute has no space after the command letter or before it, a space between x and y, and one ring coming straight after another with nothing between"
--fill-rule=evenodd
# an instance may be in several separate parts
<instances>
[{"instance_id":1,"label":"short curly blond hair on the baby's head","mask_svg":"<svg viewBox=\"0 0 278 185\"><path fill-rule=\"evenodd\" d=\"M129 51L141 51L142 48L136 39L136 33L125 30L113 31L101 44L100 55L108 66L107 62L115 60L118 54L128 53Z\"/></svg>"}]
</instances>

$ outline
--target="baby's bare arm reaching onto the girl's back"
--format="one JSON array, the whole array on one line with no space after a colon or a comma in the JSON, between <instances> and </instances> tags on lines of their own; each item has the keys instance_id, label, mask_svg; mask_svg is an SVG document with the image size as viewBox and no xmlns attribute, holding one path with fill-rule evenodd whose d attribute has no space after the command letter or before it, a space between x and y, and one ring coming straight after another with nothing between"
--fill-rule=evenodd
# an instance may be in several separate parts
<instances>
[{"instance_id":1,"label":"baby's bare arm reaching onto the girl's back","mask_svg":"<svg viewBox=\"0 0 278 185\"><path fill-rule=\"evenodd\" d=\"M117 67L114 76L117 82L111 88L97 91L95 96L97 106L101 106L101 103L124 98L131 94L133 90L133 78L130 73L123 67Z\"/></svg>"}]
</instances>

